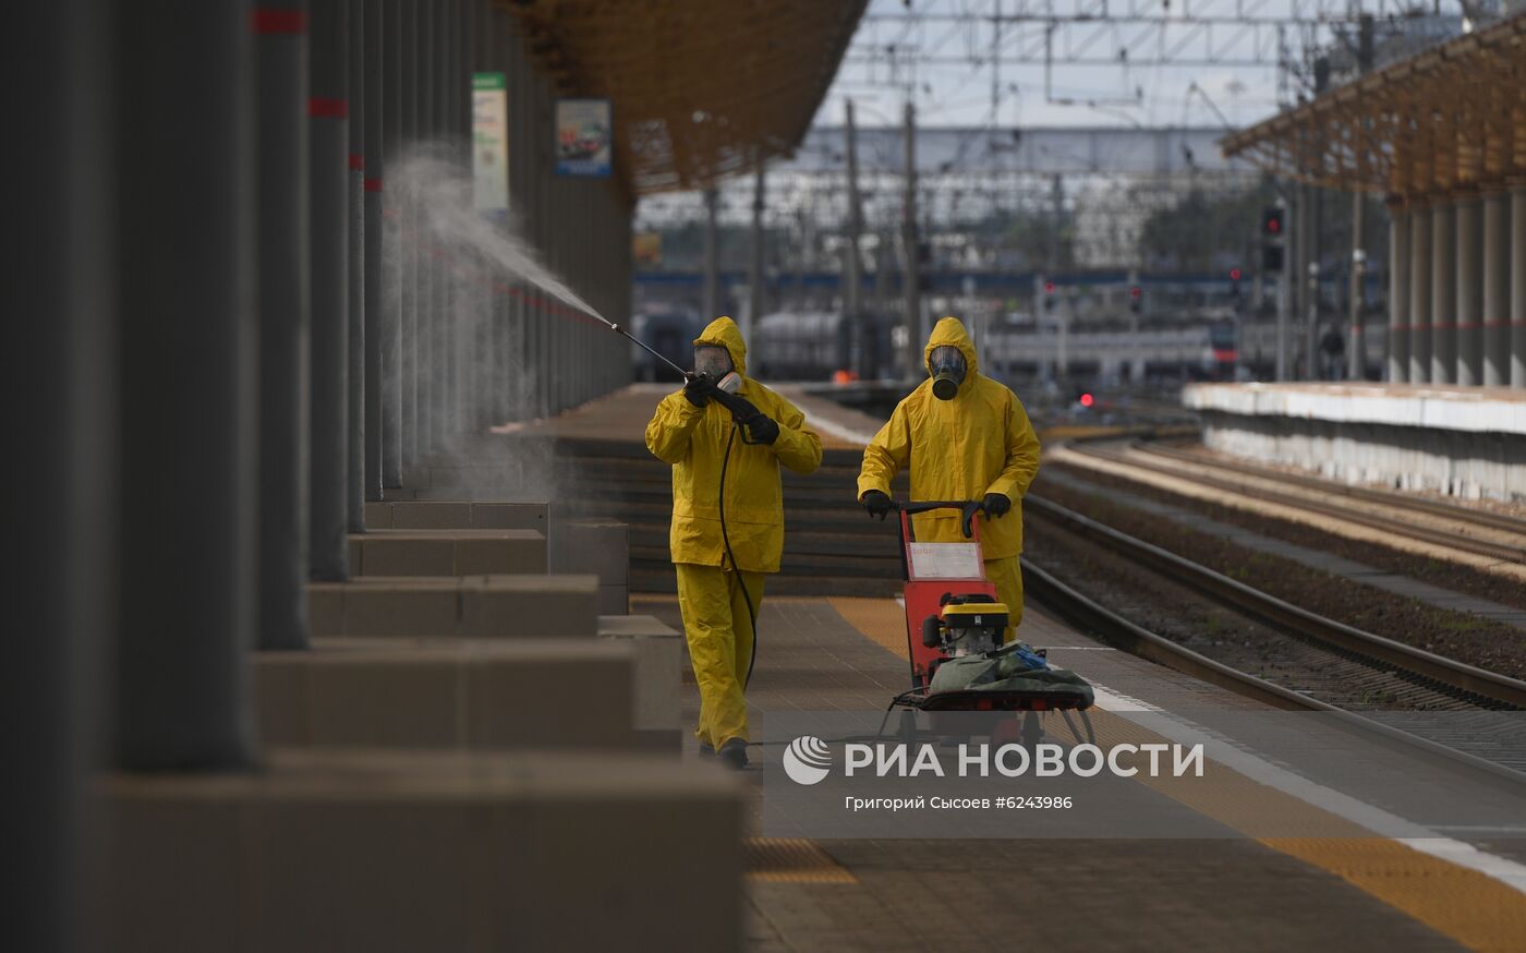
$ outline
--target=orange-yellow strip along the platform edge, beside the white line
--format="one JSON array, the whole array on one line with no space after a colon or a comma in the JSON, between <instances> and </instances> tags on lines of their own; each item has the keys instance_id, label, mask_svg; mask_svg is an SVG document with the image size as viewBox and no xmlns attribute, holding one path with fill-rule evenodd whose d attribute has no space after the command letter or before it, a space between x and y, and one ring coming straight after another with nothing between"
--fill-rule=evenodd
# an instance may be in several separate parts
<instances>
[{"instance_id":1,"label":"orange-yellow strip along the platform edge, beside the white line","mask_svg":"<svg viewBox=\"0 0 1526 953\"><path fill-rule=\"evenodd\" d=\"M865 638L905 657L905 615L894 600L833 597L830 602ZM1167 741L1116 713L1091 709L1090 715L1103 747ZM1526 895L1492 877L1375 837L1218 762L1210 761L1201 779L1138 774L1135 780L1280 854L1340 877L1471 950L1526 950ZM1279 835L1265 835L1270 825ZM1257 837L1257 829L1264 835ZM1286 835L1294 831L1300 835Z\"/></svg>"}]
</instances>

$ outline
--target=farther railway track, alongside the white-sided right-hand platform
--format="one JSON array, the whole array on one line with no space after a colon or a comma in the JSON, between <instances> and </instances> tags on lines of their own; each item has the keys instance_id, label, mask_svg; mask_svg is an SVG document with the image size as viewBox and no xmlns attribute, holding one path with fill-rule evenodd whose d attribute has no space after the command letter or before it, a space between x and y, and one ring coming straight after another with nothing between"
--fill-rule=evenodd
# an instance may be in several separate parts
<instances>
[{"instance_id":1,"label":"farther railway track, alongside the white-sided right-hand platform","mask_svg":"<svg viewBox=\"0 0 1526 953\"><path fill-rule=\"evenodd\" d=\"M1383 533L1499 562L1526 564L1526 521L1502 513L1470 510L1434 499L1412 499L1364 487L1334 487L1311 476L1228 464L1138 440L1122 446L1077 441L1068 444L1068 449L1083 457L1190 480L1199 486L1318 513Z\"/></svg>"}]
</instances>

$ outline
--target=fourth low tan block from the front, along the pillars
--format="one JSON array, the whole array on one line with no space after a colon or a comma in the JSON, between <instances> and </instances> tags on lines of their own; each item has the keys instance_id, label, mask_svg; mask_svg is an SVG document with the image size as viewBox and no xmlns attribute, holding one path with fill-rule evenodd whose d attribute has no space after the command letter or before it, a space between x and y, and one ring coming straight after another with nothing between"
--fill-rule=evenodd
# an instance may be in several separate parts
<instances>
[{"instance_id":1,"label":"fourth low tan block from the front, along the pillars","mask_svg":"<svg viewBox=\"0 0 1526 953\"><path fill-rule=\"evenodd\" d=\"M351 533L353 576L488 576L546 571L537 530L372 530Z\"/></svg>"}]
</instances>

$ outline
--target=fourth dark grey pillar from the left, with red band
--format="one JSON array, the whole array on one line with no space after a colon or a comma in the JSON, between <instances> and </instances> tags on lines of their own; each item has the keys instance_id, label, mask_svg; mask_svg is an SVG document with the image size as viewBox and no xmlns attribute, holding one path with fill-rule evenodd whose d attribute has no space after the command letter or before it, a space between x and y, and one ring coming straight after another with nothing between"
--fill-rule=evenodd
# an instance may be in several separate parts
<instances>
[{"instance_id":1,"label":"fourth dark grey pillar from the left, with red band","mask_svg":"<svg viewBox=\"0 0 1526 953\"><path fill-rule=\"evenodd\" d=\"M313 183L311 576L348 567L349 403L349 6L311 0L308 174Z\"/></svg>"}]
</instances>

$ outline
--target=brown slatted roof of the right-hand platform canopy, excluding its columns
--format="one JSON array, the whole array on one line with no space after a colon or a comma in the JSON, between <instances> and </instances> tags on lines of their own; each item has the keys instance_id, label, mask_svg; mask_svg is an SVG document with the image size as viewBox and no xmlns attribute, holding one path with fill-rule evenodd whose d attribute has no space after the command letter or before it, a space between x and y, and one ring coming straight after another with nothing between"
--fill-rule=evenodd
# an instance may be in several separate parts
<instances>
[{"instance_id":1,"label":"brown slatted roof of the right-hand platform canopy, excluding its columns","mask_svg":"<svg viewBox=\"0 0 1526 953\"><path fill-rule=\"evenodd\" d=\"M1221 142L1277 176L1425 199L1526 180L1526 15L1367 73Z\"/></svg>"}]
</instances>

